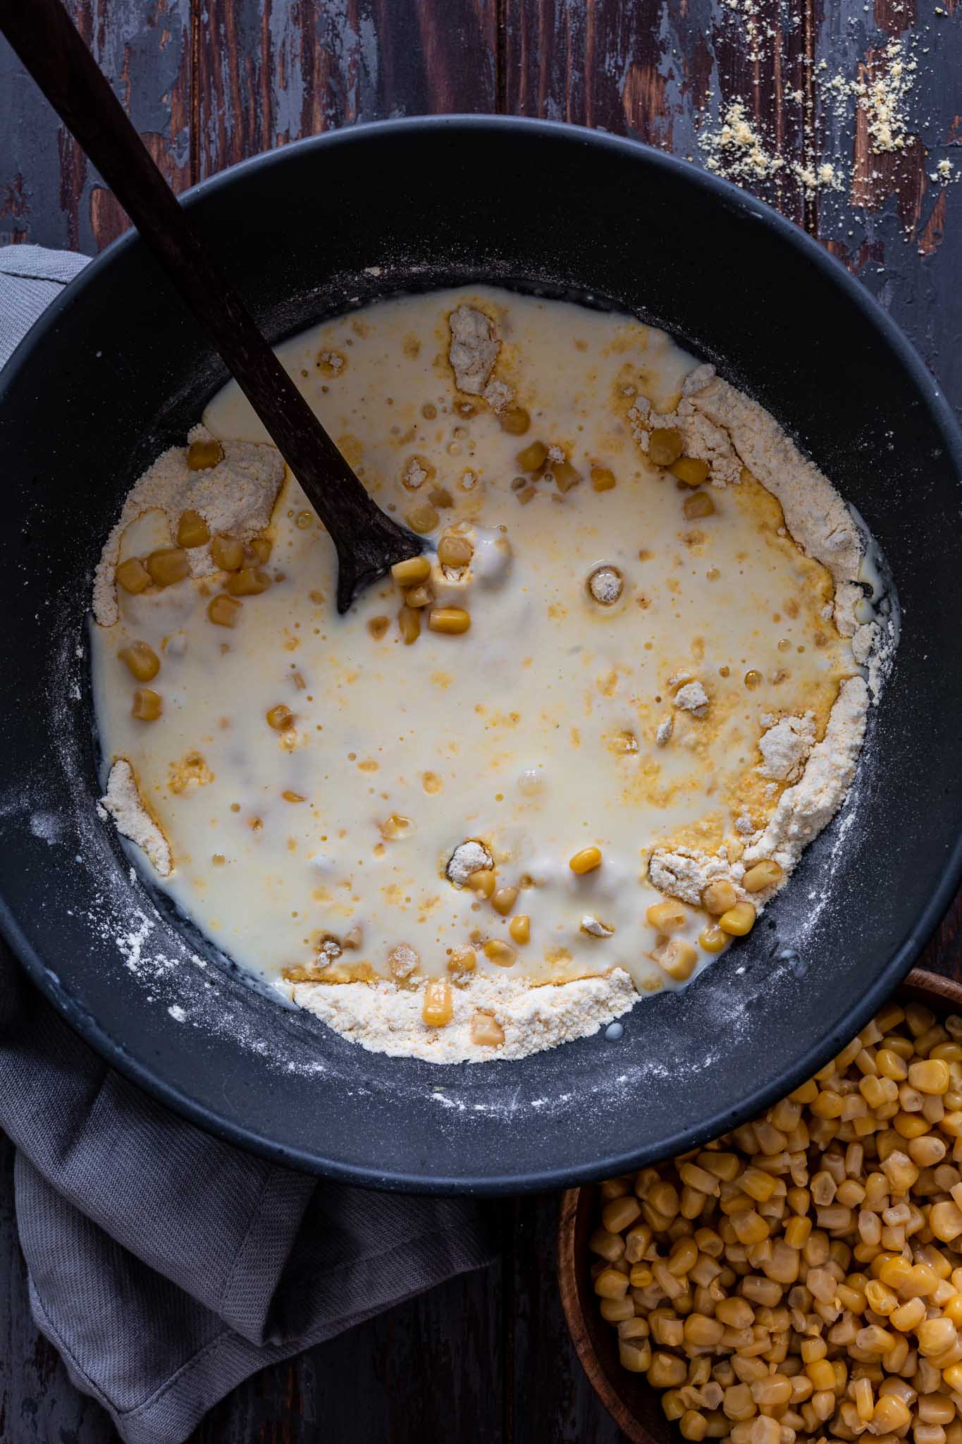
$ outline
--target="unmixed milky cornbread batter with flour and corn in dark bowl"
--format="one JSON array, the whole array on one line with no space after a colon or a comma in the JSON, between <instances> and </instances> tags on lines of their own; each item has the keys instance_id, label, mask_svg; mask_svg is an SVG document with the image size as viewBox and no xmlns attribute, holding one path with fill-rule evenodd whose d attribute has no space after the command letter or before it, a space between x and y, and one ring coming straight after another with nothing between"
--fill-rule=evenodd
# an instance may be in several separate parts
<instances>
[{"instance_id":1,"label":"unmixed milky cornbread batter with flour and corn in dark bowl","mask_svg":"<svg viewBox=\"0 0 962 1444\"><path fill-rule=\"evenodd\" d=\"M854 773L878 628L844 504L625 316L444 292L280 355L425 556L339 618L228 386L98 570L105 809L215 943L369 1047L518 1056L687 982Z\"/></svg>"}]
</instances>

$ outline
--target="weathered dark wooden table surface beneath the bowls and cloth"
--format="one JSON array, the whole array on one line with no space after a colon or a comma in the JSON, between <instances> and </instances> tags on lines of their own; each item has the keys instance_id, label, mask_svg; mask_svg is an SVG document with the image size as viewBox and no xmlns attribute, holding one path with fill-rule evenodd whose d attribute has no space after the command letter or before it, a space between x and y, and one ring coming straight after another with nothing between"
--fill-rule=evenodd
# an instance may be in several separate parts
<instances>
[{"instance_id":1,"label":"weathered dark wooden table surface beneath the bowls and cloth","mask_svg":"<svg viewBox=\"0 0 962 1444\"><path fill-rule=\"evenodd\" d=\"M301 136L427 111L599 126L734 172L861 277L962 407L956 3L71 0L71 9L177 189ZM531 206L535 218L537 196ZM124 225L0 42L0 244L94 253ZM925 966L962 978L961 915L956 900ZM3 1141L0 1149L0 1438L105 1444L115 1438L105 1415L71 1388L30 1320L12 1149ZM195 1444L620 1438L564 1330L557 1199L493 1210L498 1265L264 1370L212 1411Z\"/></svg>"}]
</instances>

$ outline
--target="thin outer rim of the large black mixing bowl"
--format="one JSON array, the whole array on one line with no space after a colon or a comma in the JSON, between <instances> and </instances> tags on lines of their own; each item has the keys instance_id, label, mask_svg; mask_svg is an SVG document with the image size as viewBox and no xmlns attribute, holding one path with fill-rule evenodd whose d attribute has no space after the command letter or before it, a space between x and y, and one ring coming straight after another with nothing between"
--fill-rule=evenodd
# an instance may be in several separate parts
<instances>
[{"instance_id":1,"label":"thin outer rim of the large black mixing bowl","mask_svg":"<svg viewBox=\"0 0 962 1444\"><path fill-rule=\"evenodd\" d=\"M899 329L894 321L891 321L887 312L862 286L862 283L855 280L842 263L831 256L816 240L808 235L793 221L782 217L766 202L749 195L728 180L701 170L691 162L681 160L676 156L643 144L642 142L612 136L583 126L512 116L451 114L371 121L348 126L335 131L326 131L320 136L306 137L304 140L293 142L288 146L275 147L273 150L262 152L258 156L241 160L189 188L182 193L180 201L190 208L202 202L206 196L216 195L224 188L229 189L242 183L245 176L255 173L261 168L283 165L286 157L296 152L320 152L330 146L340 147L369 144L371 142L376 142L378 137L392 136L397 133L418 133L428 130L456 131L459 129L475 131L486 130L492 134L500 134L505 137L516 136L521 131L525 131L528 134L544 136L545 140L554 139L570 144L580 143L586 149L604 149L625 156L627 162L642 160L655 172L662 170L665 173L684 178L687 183L698 188L704 195L707 195L712 204L723 204L728 208L734 208L740 211L744 218L754 219L766 225L770 231L777 234L785 245L795 248L803 256L803 258L815 266L815 269L821 271L831 284L838 287L874 325L881 341L897 355L909 373L913 384L919 388L920 396L927 403L933 426L940 433L940 440L945 443L952 465L962 478L962 430L959 429L955 414L949 407L937 380L925 367L922 358L907 336ZM111 245L108 245L98 257L92 258L89 264L85 266L63 289L61 296L56 297L56 300L43 312L42 318L20 341L19 347L0 373L0 407L4 404L6 391L12 377L36 348L42 348L45 345L48 335L59 325L61 318L71 306L74 296L78 295L82 287L95 280L101 271L110 269L114 260L124 254L131 245L143 244L144 243L140 240L136 230L124 232L124 235L112 241ZM848 1022L834 1030L834 1032L824 1035L806 1051L802 1058L796 1061L790 1071L782 1076L780 1080L769 1084L767 1087L759 1087L756 1092L750 1093L749 1097L746 1097L744 1110L747 1116L762 1112L770 1103L776 1102L785 1092L798 1086L798 1083L800 1083L805 1077L816 1071L824 1058L829 1057L834 1051L838 1051L838 1048L844 1045L844 1037L852 1031L852 1021L857 1027L862 1027L864 1021L871 1017L871 1014L878 1011L884 998L891 992L891 979L894 976L903 976L909 970L914 959L922 952L925 943L939 924L961 882L962 827L959 829L959 835L956 836L952 851L945 859L939 887L932 892L926 907L916 918L912 933L891 954L886 967L886 975L877 978L868 986L858 1008L850 1017ZM330 1162L319 1158L316 1151L286 1147L275 1142L273 1138L265 1136L262 1132L257 1132L252 1128L242 1126L228 1118L224 1118L222 1115L213 1113L205 1105L195 1103L182 1092L182 1089L160 1077L149 1063L131 1057L123 1043L112 1038L101 1027L97 1018L87 1012L72 995L68 995L63 991L56 976L55 965L45 962L36 949L27 943L16 917L13 915L13 911L3 897L0 897L0 933L6 937L32 980L65 1017L71 1027L74 1027L81 1037L101 1054L101 1057L104 1057L112 1067L115 1067L138 1087L143 1087L163 1105L173 1108L190 1122L198 1123L200 1128L205 1128L209 1132L245 1148L247 1151L260 1154L261 1157L288 1168L300 1168L322 1177L359 1183L368 1187L411 1193L425 1191L425 1181L420 1174L408 1171L385 1174L374 1167L363 1168ZM689 1131L685 1136L694 1144L697 1141L697 1135L698 1131ZM676 1142L681 1148L687 1147L685 1139L676 1139ZM629 1151L619 1151L607 1158L591 1160L590 1162L571 1168L550 1168L538 1173L511 1173L498 1177L485 1177L480 1180L464 1175L433 1178L430 1181L430 1191L438 1194L505 1194L532 1188L558 1188L570 1186L571 1183L584 1183L593 1178L625 1171L632 1167L632 1158L633 1155Z\"/></svg>"}]
</instances>

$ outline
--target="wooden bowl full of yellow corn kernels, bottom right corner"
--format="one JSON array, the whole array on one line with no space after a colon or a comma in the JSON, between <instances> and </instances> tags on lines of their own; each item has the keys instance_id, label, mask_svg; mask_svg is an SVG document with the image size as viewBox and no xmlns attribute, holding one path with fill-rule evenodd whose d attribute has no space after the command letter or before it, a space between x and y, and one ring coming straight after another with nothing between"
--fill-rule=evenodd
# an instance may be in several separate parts
<instances>
[{"instance_id":1,"label":"wooden bowl full of yellow corn kernels, bottom right corner","mask_svg":"<svg viewBox=\"0 0 962 1444\"><path fill-rule=\"evenodd\" d=\"M913 972L760 1118L564 1196L568 1327L630 1440L962 1444L959 1008Z\"/></svg>"}]
</instances>

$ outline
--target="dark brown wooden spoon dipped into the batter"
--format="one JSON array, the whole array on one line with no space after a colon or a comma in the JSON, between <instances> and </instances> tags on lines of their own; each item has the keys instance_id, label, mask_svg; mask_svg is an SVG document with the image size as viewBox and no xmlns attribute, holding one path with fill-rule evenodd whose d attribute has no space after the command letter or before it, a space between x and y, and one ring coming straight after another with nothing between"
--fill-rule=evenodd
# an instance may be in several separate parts
<instances>
[{"instance_id":1,"label":"dark brown wooden spoon dipped into the batter","mask_svg":"<svg viewBox=\"0 0 962 1444\"><path fill-rule=\"evenodd\" d=\"M424 542L385 516L200 244L61 0L0 0L0 32L198 318L330 533L337 611Z\"/></svg>"}]
</instances>

